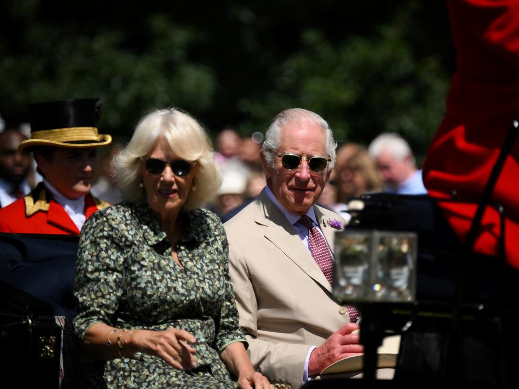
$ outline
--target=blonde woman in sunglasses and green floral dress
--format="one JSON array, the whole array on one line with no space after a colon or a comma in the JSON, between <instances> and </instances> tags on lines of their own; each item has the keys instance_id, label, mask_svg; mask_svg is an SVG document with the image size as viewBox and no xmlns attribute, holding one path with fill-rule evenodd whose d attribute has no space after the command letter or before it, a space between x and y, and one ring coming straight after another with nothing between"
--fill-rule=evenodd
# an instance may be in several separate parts
<instances>
[{"instance_id":1,"label":"blonde woman in sunglasses and green floral dress","mask_svg":"<svg viewBox=\"0 0 519 389\"><path fill-rule=\"evenodd\" d=\"M221 181L200 124L152 112L115 164L127 201L89 218L78 249L86 386L269 387L238 327L224 229L199 208Z\"/></svg>"}]
</instances>

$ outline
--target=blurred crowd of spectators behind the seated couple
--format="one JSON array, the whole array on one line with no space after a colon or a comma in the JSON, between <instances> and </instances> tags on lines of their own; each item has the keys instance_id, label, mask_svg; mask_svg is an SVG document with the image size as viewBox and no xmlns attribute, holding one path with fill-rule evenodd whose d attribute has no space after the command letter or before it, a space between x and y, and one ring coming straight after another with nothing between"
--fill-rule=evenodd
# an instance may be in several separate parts
<instances>
[{"instance_id":1,"label":"blurred crowd of spectators behind the seated couple","mask_svg":"<svg viewBox=\"0 0 519 389\"><path fill-rule=\"evenodd\" d=\"M23 196L42 179L31 155L18 151L18 145L30 137L27 127L7 127L0 121L1 207ZM224 128L216 134L214 158L222 170L222 185L207 208L224 220L228 218L226 215L234 215L252 201L266 185L261 143L261 136L242 136L233 128ZM100 156L98 178L92 188L94 196L112 204L122 200L112 165L121 146L115 142ZM339 145L320 205L348 219L347 204L351 199L380 191L404 195L426 193L421 170L417 169L408 143L396 133L383 133L367 146Z\"/></svg>"}]
</instances>

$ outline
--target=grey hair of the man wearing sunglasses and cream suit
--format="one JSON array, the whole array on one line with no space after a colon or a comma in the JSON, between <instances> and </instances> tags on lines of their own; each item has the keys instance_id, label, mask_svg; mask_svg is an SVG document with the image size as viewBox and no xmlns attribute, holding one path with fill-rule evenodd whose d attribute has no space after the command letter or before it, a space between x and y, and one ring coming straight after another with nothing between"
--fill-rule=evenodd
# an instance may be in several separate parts
<instances>
[{"instance_id":1,"label":"grey hair of the man wearing sunglasses and cream suit","mask_svg":"<svg viewBox=\"0 0 519 389\"><path fill-rule=\"evenodd\" d=\"M332 170L335 165L335 149L337 148L337 142L335 142L333 138L332 129L322 117L303 108L285 109L272 119L270 126L268 126L267 133L265 134L265 141L262 146L267 164L272 168L275 166L274 158L279 147L282 129L289 126L289 124L299 124L303 122L316 124L325 132L326 153L328 154L328 158L332 160L328 164L328 168L329 170Z\"/></svg>"}]
</instances>

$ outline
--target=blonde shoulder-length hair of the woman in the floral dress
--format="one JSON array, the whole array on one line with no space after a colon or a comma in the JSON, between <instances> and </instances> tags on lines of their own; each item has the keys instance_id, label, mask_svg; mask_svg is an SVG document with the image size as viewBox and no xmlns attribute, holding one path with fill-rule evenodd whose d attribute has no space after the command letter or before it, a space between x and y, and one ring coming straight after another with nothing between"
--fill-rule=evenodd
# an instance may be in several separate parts
<instances>
[{"instance_id":1,"label":"blonde shoulder-length hair of the woman in the floral dress","mask_svg":"<svg viewBox=\"0 0 519 389\"><path fill-rule=\"evenodd\" d=\"M157 109L146 114L135 127L128 145L114 160L115 175L127 201L138 201L146 196L142 182L141 158L163 137L171 150L186 161L196 161L193 168L193 186L184 203L185 209L195 209L214 197L222 182L220 168L213 160L211 142L200 123L179 108Z\"/></svg>"}]
</instances>

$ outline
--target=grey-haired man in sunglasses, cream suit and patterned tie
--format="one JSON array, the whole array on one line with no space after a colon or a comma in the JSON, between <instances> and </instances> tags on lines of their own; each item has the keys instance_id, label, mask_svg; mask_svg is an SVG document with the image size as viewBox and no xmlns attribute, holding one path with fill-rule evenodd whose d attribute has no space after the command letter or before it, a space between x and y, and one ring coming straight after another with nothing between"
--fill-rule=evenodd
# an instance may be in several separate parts
<instances>
[{"instance_id":1,"label":"grey-haired man in sunglasses, cream suit and patterned tie","mask_svg":"<svg viewBox=\"0 0 519 389\"><path fill-rule=\"evenodd\" d=\"M319 115L300 108L279 113L261 154L267 187L225 224L229 271L252 363L292 387L363 350L351 333L358 324L350 323L347 308L332 295L331 263L321 262L323 251L331 261L334 233L345 223L315 205L336 147ZM303 215L311 225L298 221Z\"/></svg>"}]
</instances>

